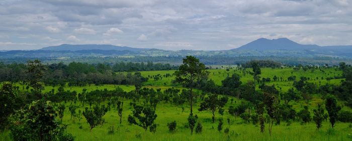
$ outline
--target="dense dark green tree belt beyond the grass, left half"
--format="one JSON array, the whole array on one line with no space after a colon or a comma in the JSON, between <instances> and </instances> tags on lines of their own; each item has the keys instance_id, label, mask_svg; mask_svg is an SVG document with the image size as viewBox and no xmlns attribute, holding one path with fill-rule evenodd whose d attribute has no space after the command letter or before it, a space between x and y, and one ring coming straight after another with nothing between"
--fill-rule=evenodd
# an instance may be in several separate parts
<instances>
[{"instance_id":1,"label":"dense dark green tree belt beyond the grass, left half","mask_svg":"<svg viewBox=\"0 0 352 141\"><path fill-rule=\"evenodd\" d=\"M119 62L113 65L106 63L89 64L82 62L71 62L68 65L62 62L46 64L43 66L43 82L48 85L94 84L135 84L146 81L145 78L136 73L117 73L121 71L143 71L143 70L169 70L177 69L178 66L168 63L133 63ZM27 64L24 63L0 63L0 81L23 81L28 78Z\"/></svg>"}]
</instances>

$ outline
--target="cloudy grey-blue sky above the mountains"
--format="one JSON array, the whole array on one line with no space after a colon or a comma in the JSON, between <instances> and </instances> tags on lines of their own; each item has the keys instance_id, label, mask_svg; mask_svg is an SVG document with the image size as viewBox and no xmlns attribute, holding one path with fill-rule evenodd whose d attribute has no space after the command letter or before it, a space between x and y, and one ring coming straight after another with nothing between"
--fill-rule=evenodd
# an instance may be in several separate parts
<instances>
[{"instance_id":1,"label":"cloudy grey-blue sky above the mountains","mask_svg":"<svg viewBox=\"0 0 352 141\"><path fill-rule=\"evenodd\" d=\"M260 37L352 44L352 0L0 0L0 50L225 50Z\"/></svg>"}]
</instances>

